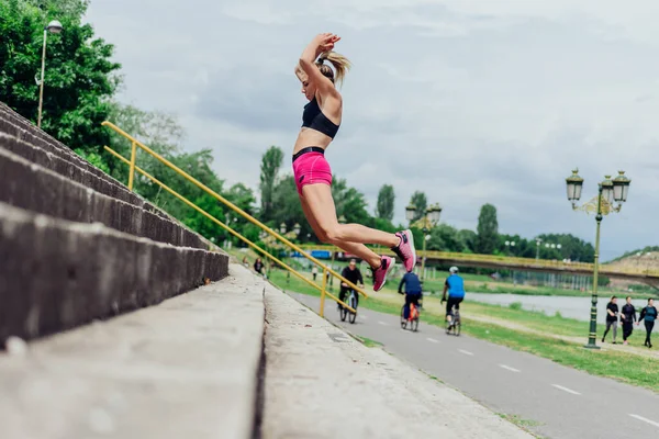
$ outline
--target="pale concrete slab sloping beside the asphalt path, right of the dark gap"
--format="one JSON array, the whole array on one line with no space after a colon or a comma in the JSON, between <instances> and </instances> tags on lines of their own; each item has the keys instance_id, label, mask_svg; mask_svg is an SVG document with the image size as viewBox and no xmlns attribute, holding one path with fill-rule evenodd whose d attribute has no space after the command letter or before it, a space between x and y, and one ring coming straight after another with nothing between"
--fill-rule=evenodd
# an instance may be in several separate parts
<instances>
[{"instance_id":1,"label":"pale concrete slab sloping beside the asphalt path, right of the dark gap","mask_svg":"<svg viewBox=\"0 0 659 439\"><path fill-rule=\"evenodd\" d=\"M265 303L263 439L533 438L275 286Z\"/></svg>"}]
</instances>

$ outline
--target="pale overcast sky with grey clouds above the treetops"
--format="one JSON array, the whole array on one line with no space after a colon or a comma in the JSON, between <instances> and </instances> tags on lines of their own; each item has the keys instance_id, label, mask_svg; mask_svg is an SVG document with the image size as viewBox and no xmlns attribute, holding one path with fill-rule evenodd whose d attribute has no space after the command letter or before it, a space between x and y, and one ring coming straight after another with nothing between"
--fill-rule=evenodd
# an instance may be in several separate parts
<instances>
[{"instance_id":1,"label":"pale overcast sky with grey clouds above the treetops","mask_svg":"<svg viewBox=\"0 0 659 439\"><path fill-rule=\"evenodd\" d=\"M292 151L302 49L337 33L354 68L327 158L371 211L391 183L400 222L424 190L459 228L489 202L501 233L594 241L565 178L579 167L590 199L624 169L610 259L659 244L657 16L654 0L93 0L87 20L116 46L120 100L176 114L188 148L212 148L221 178L255 190L268 146Z\"/></svg>"}]
</instances>

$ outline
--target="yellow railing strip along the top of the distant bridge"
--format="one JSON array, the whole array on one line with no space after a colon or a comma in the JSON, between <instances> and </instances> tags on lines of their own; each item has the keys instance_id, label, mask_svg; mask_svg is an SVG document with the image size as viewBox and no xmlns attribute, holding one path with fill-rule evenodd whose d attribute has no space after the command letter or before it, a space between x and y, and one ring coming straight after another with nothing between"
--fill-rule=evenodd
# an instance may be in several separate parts
<instances>
[{"instance_id":1,"label":"yellow railing strip along the top of the distant bridge","mask_svg":"<svg viewBox=\"0 0 659 439\"><path fill-rule=\"evenodd\" d=\"M301 246L304 249L314 250L328 250L333 248L327 245L313 245L305 244ZM383 254L393 255L390 249L382 249ZM507 257L500 255L479 255L479 254L458 254L450 251L436 251L427 250L424 255L423 251L417 251L418 257L426 257L431 259L451 259L451 260L463 260L466 262L481 261L481 262L501 262L517 264L518 267L528 268L552 268L552 269L581 269L583 271L593 271L593 264L590 262L563 262L559 260L549 259L533 259L533 258L520 258L520 257ZM643 269L615 269L607 267L606 264L600 264L600 273L608 275L651 275L659 277L659 270L643 270Z\"/></svg>"}]
</instances>

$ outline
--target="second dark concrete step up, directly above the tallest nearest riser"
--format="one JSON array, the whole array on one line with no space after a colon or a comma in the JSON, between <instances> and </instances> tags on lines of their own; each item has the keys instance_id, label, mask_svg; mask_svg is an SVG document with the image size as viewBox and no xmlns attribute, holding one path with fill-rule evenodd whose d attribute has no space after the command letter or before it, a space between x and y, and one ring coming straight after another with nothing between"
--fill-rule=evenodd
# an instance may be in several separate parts
<instances>
[{"instance_id":1,"label":"second dark concrete step up, directly above the tallest nearest riser","mask_svg":"<svg viewBox=\"0 0 659 439\"><path fill-rule=\"evenodd\" d=\"M2 140L18 142L0 137L0 145L7 144ZM141 200L136 200L136 204L129 203L97 192L1 147L0 176L1 202L56 218L98 222L119 232L174 246L209 248L196 233L144 209Z\"/></svg>"}]
</instances>

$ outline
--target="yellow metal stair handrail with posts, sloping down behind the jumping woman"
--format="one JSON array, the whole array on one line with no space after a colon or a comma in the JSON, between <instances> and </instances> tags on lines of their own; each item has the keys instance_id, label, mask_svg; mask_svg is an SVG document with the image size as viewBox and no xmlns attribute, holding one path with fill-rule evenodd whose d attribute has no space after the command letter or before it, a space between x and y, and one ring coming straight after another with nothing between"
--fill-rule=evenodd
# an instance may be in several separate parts
<instances>
[{"instance_id":1,"label":"yellow metal stair handrail with posts, sloping down behind the jumping woman","mask_svg":"<svg viewBox=\"0 0 659 439\"><path fill-rule=\"evenodd\" d=\"M312 261L313 263L315 263L316 266L319 266L320 268L322 268L323 269L323 279L324 279L324 282L323 282L323 288L321 289L321 309L320 309L320 313L319 313L321 316L324 315L325 295L328 295L334 301L339 302L337 297L333 296L332 294L330 294L330 293L327 293L325 291L325 286L326 286L325 285L325 281L326 281L326 278L327 278L327 275L326 275L327 273L330 273L330 274L334 275L335 278L339 279L342 282L346 283L347 285L349 285L350 288L353 288L355 291L357 291L359 294L364 295L365 297L368 297L368 294L366 294L366 292L362 289L360 289L359 286L357 286L355 283L350 282L349 280L347 280L346 278L344 278L342 274L339 274L336 271L334 271L332 268L325 266L324 263L322 263L320 260L317 260L313 256L306 254L298 245L291 243L286 237L281 236L280 234L278 234L277 232L275 232L273 229L271 229L270 227L268 227L267 225L265 225L260 221L256 219L254 216L249 215L248 213L246 213L245 211L243 211L241 207L236 206L231 201L226 200L224 196L220 195L219 193L216 193L215 191L213 191L212 189L210 189L209 187L206 187L205 184L203 184L201 181L197 180L194 177L190 176L189 173L187 173L186 171L183 171L182 169L180 169L179 167L177 167L176 165L174 165L171 161L167 160L165 157L160 156L159 154L157 154L156 151L154 151L153 149L150 149L148 146L144 145L142 142L137 140L136 138L134 138L133 136L131 136L130 134L127 134L126 132L124 132L123 130L121 130L119 126L116 126L113 123L108 122L108 121L103 122L102 125L107 126L107 127L109 127L111 130L113 130L114 132L116 132L118 134L120 134L121 136L125 137L126 139L129 139L131 142L132 148L131 148L131 160L129 162L129 167L130 167L130 170L129 170L129 172L130 172L130 176L129 176L129 189L131 189L131 190L133 189L133 175L134 175L135 169L136 169L136 166L135 166L135 161L136 161L136 148L138 146L143 150L145 150L146 153L148 153L149 155L152 155L154 158L156 158L158 161L160 161L165 166L169 167L170 169L175 170L179 176L183 177L185 179L187 179L188 181L190 181L191 183L193 183L194 185L197 185L198 188L200 188L201 190L203 190L204 192L206 192L209 195L215 198L216 200L219 200L220 202L222 202L225 206L227 206L228 209L231 209L235 213L239 214L245 219L249 221L252 224L260 227L263 230L265 230L266 233L268 233L270 236L272 236L276 239L278 239L279 241L286 244L289 248L293 249L294 251L299 252L300 255L304 256L306 259L309 259L310 261ZM144 171L142 171L142 172L144 172ZM211 215L209 215L209 216L211 216ZM227 227L226 225L222 224L221 222L217 221L217 223L221 226L223 226L225 229L231 230L232 233L234 233L235 235L239 235L239 234L235 233L235 230L233 230L231 227ZM256 246L256 247L258 247L258 246ZM260 249L260 247L258 247L258 248ZM278 262L278 263L282 263L283 264L283 262ZM288 267L288 266L286 266L286 267ZM289 271L299 274L292 268L289 267L288 269L289 269ZM343 304L343 302L342 302L342 304ZM347 306L347 305L345 305L345 306Z\"/></svg>"}]
</instances>

